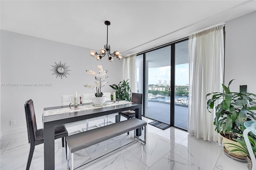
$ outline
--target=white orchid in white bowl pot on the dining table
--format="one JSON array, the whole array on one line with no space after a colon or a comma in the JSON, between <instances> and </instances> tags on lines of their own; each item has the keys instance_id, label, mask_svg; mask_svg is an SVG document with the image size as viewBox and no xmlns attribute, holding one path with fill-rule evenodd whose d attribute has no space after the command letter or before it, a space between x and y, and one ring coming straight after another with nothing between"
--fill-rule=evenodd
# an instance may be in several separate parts
<instances>
[{"instance_id":1,"label":"white orchid in white bowl pot on the dining table","mask_svg":"<svg viewBox=\"0 0 256 170\"><path fill-rule=\"evenodd\" d=\"M94 76L95 84L86 84L84 87L96 88L96 93L94 93L95 97L92 97L92 102L95 105L103 105L103 103L106 101L106 96L103 96L104 94L101 92L101 88L108 83L105 81L108 78L108 76L106 76L108 71L104 71L102 65L98 65L98 70L98 74L96 74L95 71L86 70L87 73L89 73L91 76Z\"/></svg>"}]
</instances>

